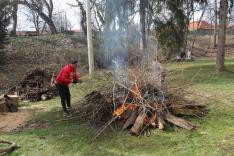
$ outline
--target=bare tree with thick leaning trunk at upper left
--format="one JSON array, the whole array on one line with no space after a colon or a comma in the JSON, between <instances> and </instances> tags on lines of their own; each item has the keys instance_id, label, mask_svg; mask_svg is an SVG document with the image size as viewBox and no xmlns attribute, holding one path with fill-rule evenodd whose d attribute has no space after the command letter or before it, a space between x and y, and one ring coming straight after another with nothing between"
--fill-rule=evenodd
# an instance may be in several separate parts
<instances>
[{"instance_id":1,"label":"bare tree with thick leaning trunk at upper left","mask_svg":"<svg viewBox=\"0 0 234 156\"><path fill-rule=\"evenodd\" d=\"M20 4L36 11L41 19L49 26L51 33L57 34L57 29L52 19L54 10L53 0L21 0Z\"/></svg>"}]
</instances>

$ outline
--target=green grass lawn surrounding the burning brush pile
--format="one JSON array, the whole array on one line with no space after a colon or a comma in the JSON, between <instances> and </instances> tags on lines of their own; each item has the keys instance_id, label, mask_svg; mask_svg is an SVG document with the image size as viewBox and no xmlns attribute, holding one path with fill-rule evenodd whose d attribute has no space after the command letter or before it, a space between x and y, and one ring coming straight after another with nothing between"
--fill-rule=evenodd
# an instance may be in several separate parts
<instances>
[{"instance_id":1,"label":"green grass lawn surrounding the burning brush pile","mask_svg":"<svg viewBox=\"0 0 234 156\"><path fill-rule=\"evenodd\" d=\"M199 60L167 65L173 81L188 82L188 90L218 100L199 99L209 104L209 113L203 118L191 119L198 128L189 132L180 128L166 131L151 130L150 137L134 137L127 132L107 130L91 142L97 129L80 121L61 119L59 98L47 102L25 104L25 107L44 108L34 111L33 120L47 120L49 128L0 134L1 139L12 140L21 149L10 155L234 155L234 60L227 60L228 72L217 73L213 60ZM181 81L183 80L183 81ZM107 79L97 73L95 79L72 86L73 103L93 89L100 88Z\"/></svg>"}]
</instances>

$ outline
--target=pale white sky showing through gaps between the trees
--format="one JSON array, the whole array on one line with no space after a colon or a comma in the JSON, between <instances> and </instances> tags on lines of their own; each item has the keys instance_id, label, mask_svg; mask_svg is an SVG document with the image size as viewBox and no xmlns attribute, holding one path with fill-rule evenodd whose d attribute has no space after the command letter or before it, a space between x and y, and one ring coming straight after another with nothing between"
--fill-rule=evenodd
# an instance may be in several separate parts
<instances>
[{"instance_id":1,"label":"pale white sky showing through gaps between the trees","mask_svg":"<svg viewBox=\"0 0 234 156\"><path fill-rule=\"evenodd\" d=\"M213 0L211 0L213 1ZM69 6L67 3L70 4L77 4L76 0L54 0L54 13L64 13L67 14L68 21L71 22L72 29L80 29L80 11L79 8L74 8ZM17 31L30 31L35 30L33 28L32 23L26 21L25 16L26 10L24 7L20 6L18 11L18 26ZM201 13L195 14L195 20L198 20ZM136 22L139 22L139 18L135 18Z\"/></svg>"}]
</instances>

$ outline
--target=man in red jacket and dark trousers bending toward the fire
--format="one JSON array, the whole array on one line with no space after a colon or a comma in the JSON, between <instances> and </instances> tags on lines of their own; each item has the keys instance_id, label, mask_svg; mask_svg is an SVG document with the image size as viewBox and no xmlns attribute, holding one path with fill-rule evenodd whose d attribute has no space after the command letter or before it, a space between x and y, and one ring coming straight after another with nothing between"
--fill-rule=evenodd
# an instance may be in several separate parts
<instances>
[{"instance_id":1,"label":"man in red jacket and dark trousers bending toward the fire","mask_svg":"<svg viewBox=\"0 0 234 156\"><path fill-rule=\"evenodd\" d=\"M72 61L71 64L66 65L60 70L58 76L55 79L56 87L61 98L64 116L69 115L68 109L71 109L71 94L69 90L69 84L76 84L79 80L76 72L77 66L78 62Z\"/></svg>"}]
</instances>

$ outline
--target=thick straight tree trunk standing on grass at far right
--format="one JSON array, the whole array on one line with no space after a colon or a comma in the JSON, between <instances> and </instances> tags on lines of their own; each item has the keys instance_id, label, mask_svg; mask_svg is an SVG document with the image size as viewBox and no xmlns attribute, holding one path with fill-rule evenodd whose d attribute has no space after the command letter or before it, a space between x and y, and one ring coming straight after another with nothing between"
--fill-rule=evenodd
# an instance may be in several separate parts
<instances>
[{"instance_id":1,"label":"thick straight tree trunk standing on grass at far right","mask_svg":"<svg viewBox=\"0 0 234 156\"><path fill-rule=\"evenodd\" d=\"M224 70L224 57L225 57L228 0L220 1L219 12L220 12L220 15L219 15L219 33L218 33L218 49L217 49L217 56L216 56L216 69L217 71L223 71Z\"/></svg>"}]
</instances>

